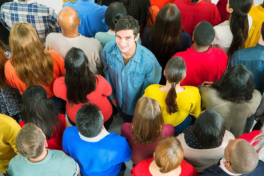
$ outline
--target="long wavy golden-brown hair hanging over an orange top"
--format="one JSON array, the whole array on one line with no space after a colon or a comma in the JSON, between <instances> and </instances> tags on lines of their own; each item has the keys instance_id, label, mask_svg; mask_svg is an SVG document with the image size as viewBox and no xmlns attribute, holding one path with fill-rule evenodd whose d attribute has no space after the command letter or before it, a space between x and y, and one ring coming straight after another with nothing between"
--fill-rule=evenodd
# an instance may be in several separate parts
<instances>
[{"instance_id":1,"label":"long wavy golden-brown hair hanging over an orange top","mask_svg":"<svg viewBox=\"0 0 264 176\"><path fill-rule=\"evenodd\" d=\"M11 64L18 78L26 84L49 86L53 79L51 54L43 45L31 24L16 22L9 36Z\"/></svg>"}]
</instances>

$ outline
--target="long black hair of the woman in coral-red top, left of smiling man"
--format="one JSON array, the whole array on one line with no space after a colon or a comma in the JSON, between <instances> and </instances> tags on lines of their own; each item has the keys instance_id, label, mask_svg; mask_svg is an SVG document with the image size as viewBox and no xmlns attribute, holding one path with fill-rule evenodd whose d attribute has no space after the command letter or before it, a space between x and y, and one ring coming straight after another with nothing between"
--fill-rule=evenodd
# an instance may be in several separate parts
<instances>
[{"instance_id":1,"label":"long black hair of the woman in coral-red top, left of smiling man","mask_svg":"<svg viewBox=\"0 0 264 176\"><path fill-rule=\"evenodd\" d=\"M87 103L87 95L95 91L98 78L90 70L90 63L83 50L72 47L65 55L64 67L69 105Z\"/></svg>"}]
</instances>

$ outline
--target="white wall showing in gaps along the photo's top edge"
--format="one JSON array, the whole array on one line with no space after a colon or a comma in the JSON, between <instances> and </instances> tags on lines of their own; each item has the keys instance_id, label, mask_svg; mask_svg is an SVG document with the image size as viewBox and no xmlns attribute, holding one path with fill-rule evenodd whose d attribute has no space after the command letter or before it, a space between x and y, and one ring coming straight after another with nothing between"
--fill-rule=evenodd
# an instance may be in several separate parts
<instances>
[{"instance_id":1,"label":"white wall showing in gaps along the photo's top edge","mask_svg":"<svg viewBox=\"0 0 264 176\"><path fill-rule=\"evenodd\" d=\"M212 3L217 3L218 0L211 0ZM255 1L255 6L258 6L258 4L261 4L263 0L254 0ZM43 4L45 6L53 8L56 13L58 14L60 9L62 9L62 0L35 0L35 2L39 4Z\"/></svg>"}]
</instances>

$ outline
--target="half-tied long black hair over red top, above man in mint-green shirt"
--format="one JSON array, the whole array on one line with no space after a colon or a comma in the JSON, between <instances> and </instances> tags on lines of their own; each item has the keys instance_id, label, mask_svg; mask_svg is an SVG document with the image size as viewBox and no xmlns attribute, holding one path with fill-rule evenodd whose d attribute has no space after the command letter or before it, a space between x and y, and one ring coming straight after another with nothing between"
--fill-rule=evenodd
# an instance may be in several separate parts
<instances>
[{"instance_id":1,"label":"half-tied long black hair over red top, above man in mint-green shirt","mask_svg":"<svg viewBox=\"0 0 264 176\"><path fill-rule=\"evenodd\" d=\"M26 123L34 123L46 136L47 140L56 137L56 132L62 134L62 121L54 107L52 100L47 98L44 87L39 85L29 86L22 95L23 117Z\"/></svg>"}]
</instances>

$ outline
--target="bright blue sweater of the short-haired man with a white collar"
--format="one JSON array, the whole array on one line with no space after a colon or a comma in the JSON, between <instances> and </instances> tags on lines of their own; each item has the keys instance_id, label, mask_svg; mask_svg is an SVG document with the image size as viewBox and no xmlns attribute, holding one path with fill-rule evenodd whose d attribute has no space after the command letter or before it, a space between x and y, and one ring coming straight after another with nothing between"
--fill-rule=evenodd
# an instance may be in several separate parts
<instances>
[{"instance_id":1,"label":"bright blue sweater of the short-haired man with a white collar","mask_svg":"<svg viewBox=\"0 0 264 176\"><path fill-rule=\"evenodd\" d=\"M88 142L81 139L76 126L65 129L62 147L79 164L84 176L116 176L121 163L132 155L125 137L110 133L97 142Z\"/></svg>"}]
</instances>

